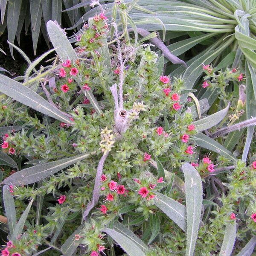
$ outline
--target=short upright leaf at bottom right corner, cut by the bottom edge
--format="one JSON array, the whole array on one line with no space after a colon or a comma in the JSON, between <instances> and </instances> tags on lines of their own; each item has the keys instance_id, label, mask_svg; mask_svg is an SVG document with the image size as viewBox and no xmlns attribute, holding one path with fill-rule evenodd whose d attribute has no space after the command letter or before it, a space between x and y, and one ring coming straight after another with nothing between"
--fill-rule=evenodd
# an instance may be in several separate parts
<instances>
[{"instance_id":1,"label":"short upright leaf at bottom right corner, cut by the bottom edge","mask_svg":"<svg viewBox=\"0 0 256 256\"><path fill-rule=\"evenodd\" d=\"M236 222L227 224L219 256L230 256L236 240Z\"/></svg>"}]
</instances>

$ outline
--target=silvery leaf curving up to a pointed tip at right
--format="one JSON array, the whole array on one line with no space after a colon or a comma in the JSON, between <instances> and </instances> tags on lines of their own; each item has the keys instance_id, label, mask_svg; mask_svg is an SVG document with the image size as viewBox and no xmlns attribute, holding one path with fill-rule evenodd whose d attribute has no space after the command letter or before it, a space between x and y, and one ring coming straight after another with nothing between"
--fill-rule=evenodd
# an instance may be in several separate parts
<instances>
[{"instance_id":1,"label":"silvery leaf curving up to a pointed tip at right","mask_svg":"<svg viewBox=\"0 0 256 256\"><path fill-rule=\"evenodd\" d=\"M218 111L210 116L207 116L203 119L195 121L194 124L196 126L196 130L204 131L217 125L227 115L229 107L230 107L230 104L228 104L227 107L222 109L221 111Z\"/></svg>"}]
</instances>

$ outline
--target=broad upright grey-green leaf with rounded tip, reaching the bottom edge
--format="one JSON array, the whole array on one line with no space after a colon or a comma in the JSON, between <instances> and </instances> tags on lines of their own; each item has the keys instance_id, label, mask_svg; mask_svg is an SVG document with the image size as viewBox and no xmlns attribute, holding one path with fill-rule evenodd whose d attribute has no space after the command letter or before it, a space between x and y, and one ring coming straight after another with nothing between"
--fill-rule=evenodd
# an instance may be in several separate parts
<instances>
[{"instance_id":1,"label":"broad upright grey-green leaf with rounded tip, reaching the bottom edge","mask_svg":"<svg viewBox=\"0 0 256 256\"><path fill-rule=\"evenodd\" d=\"M198 171L189 163L182 166L186 187L186 256L193 256L201 220L203 185Z\"/></svg>"}]
</instances>

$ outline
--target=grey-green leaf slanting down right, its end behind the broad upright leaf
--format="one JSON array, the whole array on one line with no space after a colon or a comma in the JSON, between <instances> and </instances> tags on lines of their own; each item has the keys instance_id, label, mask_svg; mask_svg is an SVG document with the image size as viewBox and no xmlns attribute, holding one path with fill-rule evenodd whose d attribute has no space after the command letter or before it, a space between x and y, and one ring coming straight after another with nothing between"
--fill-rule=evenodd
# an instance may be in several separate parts
<instances>
[{"instance_id":1,"label":"grey-green leaf slanting down right, its end behind the broad upright leaf","mask_svg":"<svg viewBox=\"0 0 256 256\"><path fill-rule=\"evenodd\" d=\"M155 192L154 205L161 209L182 230L186 231L186 207L172 198Z\"/></svg>"}]
</instances>

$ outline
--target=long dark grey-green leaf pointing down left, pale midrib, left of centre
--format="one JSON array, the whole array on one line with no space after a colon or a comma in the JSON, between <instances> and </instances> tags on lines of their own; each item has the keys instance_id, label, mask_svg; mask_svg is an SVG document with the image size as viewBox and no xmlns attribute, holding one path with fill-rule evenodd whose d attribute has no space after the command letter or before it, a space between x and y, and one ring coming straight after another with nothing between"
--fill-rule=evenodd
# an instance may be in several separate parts
<instances>
[{"instance_id":1,"label":"long dark grey-green leaf pointing down left, pale midrib, left of centre","mask_svg":"<svg viewBox=\"0 0 256 256\"><path fill-rule=\"evenodd\" d=\"M67 166L70 166L76 163L79 160L83 160L88 157L90 154L80 154L75 157L68 157L61 160L44 163L37 166L32 166L26 169L23 169L19 172L15 172L13 175L7 177L3 180L2 183L6 185L17 184L17 185L28 185L31 183L38 182L43 180L46 177L53 175L55 172L58 172Z\"/></svg>"}]
</instances>

